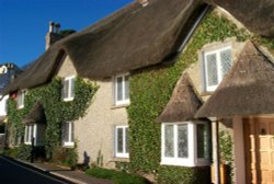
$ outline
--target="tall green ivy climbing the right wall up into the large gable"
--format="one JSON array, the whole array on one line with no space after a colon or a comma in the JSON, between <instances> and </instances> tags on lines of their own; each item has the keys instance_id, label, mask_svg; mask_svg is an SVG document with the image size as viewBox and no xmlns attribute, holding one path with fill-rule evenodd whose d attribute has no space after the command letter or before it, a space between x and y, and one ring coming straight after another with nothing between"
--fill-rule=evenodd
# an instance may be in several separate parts
<instances>
[{"instance_id":1,"label":"tall green ivy climbing the right wall up into the large gable","mask_svg":"<svg viewBox=\"0 0 274 184\"><path fill-rule=\"evenodd\" d=\"M130 131L129 168L133 171L158 172L160 183L167 180L163 175L181 174L179 177L173 176L167 180L169 181L168 183L176 183L179 182L175 181L176 179L186 179L190 172L193 173L193 177L199 177L201 174L204 174L203 172L195 172L195 169L190 168L162 168L159 165L161 133L160 124L156 123L156 119L168 103L182 71L191 64L197 62L197 50L205 44L221 42L229 37L236 37L238 42L252 39L266 46L271 51L274 50L274 41L253 36L243 28L239 30L226 18L220 16L215 11L210 11L173 65L155 66L133 73L130 78L132 105L127 108ZM182 170L186 171L182 172ZM196 181L194 183L199 182Z\"/></svg>"}]
</instances>

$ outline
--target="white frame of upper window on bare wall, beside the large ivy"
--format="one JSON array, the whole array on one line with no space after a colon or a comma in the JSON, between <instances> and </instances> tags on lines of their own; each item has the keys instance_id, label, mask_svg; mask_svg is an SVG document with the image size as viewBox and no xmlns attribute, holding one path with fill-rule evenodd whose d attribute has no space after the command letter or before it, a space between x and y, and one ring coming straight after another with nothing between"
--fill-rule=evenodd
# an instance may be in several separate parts
<instances>
[{"instance_id":1,"label":"white frame of upper window on bare wall, beside the large ivy","mask_svg":"<svg viewBox=\"0 0 274 184\"><path fill-rule=\"evenodd\" d=\"M129 84L129 73L128 72L114 77L114 103L115 103L115 105L127 105L130 103L129 94L128 94L128 99L126 99L126 95L125 95L125 78L126 77L128 77L128 84ZM118 78L122 78L122 100L118 100L118 85L117 85ZM128 90L128 93L129 93L129 90Z\"/></svg>"}]
</instances>

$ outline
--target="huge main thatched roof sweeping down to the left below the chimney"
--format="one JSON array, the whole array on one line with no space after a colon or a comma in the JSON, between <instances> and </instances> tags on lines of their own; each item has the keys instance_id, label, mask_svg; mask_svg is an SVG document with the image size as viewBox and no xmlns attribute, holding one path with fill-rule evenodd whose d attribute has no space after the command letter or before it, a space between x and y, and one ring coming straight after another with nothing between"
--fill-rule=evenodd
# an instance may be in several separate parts
<instances>
[{"instance_id":1,"label":"huge main thatched roof sweeping down to the left below the chimney","mask_svg":"<svg viewBox=\"0 0 274 184\"><path fill-rule=\"evenodd\" d=\"M147 7L134 2L55 43L4 92L49 81L64 51L78 74L90 79L159 64L176 51L202 8L202 0L150 0Z\"/></svg>"}]
</instances>

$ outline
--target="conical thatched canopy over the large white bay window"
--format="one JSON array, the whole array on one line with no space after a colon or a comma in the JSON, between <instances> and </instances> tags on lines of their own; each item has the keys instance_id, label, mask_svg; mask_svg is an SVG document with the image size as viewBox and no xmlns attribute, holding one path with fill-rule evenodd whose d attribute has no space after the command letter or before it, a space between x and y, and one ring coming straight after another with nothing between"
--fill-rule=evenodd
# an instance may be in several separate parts
<instances>
[{"instance_id":1,"label":"conical thatched canopy over the large white bay window","mask_svg":"<svg viewBox=\"0 0 274 184\"><path fill-rule=\"evenodd\" d=\"M191 79L184 73L176 83L173 94L157 122L186 122L194 119L194 115L202 106Z\"/></svg>"}]
</instances>

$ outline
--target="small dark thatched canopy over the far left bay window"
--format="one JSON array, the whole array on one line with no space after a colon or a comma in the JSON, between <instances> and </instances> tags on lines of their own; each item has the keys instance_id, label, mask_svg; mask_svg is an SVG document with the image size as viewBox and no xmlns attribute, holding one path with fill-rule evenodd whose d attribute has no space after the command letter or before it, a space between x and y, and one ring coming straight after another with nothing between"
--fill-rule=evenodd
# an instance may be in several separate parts
<instances>
[{"instance_id":1,"label":"small dark thatched canopy over the far left bay window","mask_svg":"<svg viewBox=\"0 0 274 184\"><path fill-rule=\"evenodd\" d=\"M23 122L25 124L45 124L46 115L43 105L36 102Z\"/></svg>"}]
</instances>

